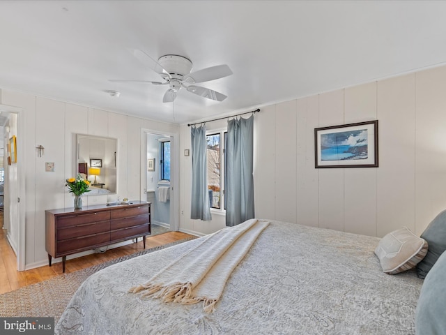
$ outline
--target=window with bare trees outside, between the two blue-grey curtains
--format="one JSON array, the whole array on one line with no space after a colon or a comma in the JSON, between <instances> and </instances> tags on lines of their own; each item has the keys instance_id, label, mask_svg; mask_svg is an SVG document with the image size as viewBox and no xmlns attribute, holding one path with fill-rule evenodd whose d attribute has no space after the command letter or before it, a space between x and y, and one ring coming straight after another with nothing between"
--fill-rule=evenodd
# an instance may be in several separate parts
<instances>
[{"instance_id":1,"label":"window with bare trees outside, between the two blue-grey curtains","mask_svg":"<svg viewBox=\"0 0 446 335\"><path fill-rule=\"evenodd\" d=\"M222 185L224 184L225 166L224 150L221 150L222 138L226 140L226 132L224 131L206 135L209 205L210 208L215 209L222 209L222 204L224 203L224 188ZM226 209L226 206L224 206L224 209Z\"/></svg>"}]
</instances>

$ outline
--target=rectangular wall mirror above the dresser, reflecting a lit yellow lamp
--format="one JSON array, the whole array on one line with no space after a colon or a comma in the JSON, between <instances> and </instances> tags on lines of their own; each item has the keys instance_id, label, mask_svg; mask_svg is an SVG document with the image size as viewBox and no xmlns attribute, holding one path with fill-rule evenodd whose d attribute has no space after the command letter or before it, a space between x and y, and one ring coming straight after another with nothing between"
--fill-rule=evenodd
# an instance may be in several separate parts
<instances>
[{"instance_id":1,"label":"rectangular wall mirror above the dresser, reflecting a lit yellow lamp","mask_svg":"<svg viewBox=\"0 0 446 335\"><path fill-rule=\"evenodd\" d=\"M116 193L116 138L77 134L77 173L91 182L84 195Z\"/></svg>"}]
</instances>

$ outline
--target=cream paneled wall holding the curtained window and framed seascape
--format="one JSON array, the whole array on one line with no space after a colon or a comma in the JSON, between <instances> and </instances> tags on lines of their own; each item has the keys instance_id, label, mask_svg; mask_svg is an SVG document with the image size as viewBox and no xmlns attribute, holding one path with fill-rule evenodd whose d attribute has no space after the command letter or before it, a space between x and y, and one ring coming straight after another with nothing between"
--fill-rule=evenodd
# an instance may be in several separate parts
<instances>
[{"instance_id":1,"label":"cream paneled wall holding the curtained window and framed seascape","mask_svg":"<svg viewBox=\"0 0 446 335\"><path fill-rule=\"evenodd\" d=\"M443 66L261 107L256 216L378 237L402 226L421 234L446 208L445 87ZM314 168L314 128L374 119L379 168ZM181 174L186 188L188 173ZM190 190L181 198L190 207ZM183 225L221 228L188 216Z\"/></svg>"}]
</instances>

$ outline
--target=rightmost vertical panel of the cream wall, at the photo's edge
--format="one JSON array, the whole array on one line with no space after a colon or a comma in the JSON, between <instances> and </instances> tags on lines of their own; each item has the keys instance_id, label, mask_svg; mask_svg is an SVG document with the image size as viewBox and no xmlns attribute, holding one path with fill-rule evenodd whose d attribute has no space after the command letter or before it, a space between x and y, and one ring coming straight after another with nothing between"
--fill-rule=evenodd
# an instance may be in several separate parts
<instances>
[{"instance_id":1,"label":"rightmost vertical panel of the cream wall, at the photo's edge","mask_svg":"<svg viewBox=\"0 0 446 335\"><path fill-rule=\"evenodd\" d=\"M415 228L446 204L446 67L415 77Z\"/></svg>"}]
</instances>

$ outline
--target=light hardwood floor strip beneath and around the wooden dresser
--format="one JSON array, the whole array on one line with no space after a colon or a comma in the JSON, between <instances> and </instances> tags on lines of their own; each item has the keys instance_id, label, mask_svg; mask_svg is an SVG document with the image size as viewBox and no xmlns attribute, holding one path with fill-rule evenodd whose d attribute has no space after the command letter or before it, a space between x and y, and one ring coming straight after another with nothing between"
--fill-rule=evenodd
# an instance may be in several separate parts
<instances>
[{"instance_id":1,"label":"light hardwood floor strip beneath and around the wooden dresser","mask_svg":"<svg viewBox=\"0 0 446 335\"><path fill-rule=\"evenodd\" d=\"M192 237L184 232L166 232L146 238L146 249L161 246L180 239ZM105 253L93 253L84 257L67 260L66 273L74 272L86 267L114 260L115 258L130 255L144 250L143 242L128 244L119 248L109 249ZM59 260L59 259L58 259ZM23 286L46 281L49 278L62 274L62 262L53 263L51 267L38 267L36 269L17 271L17 258L6 239L6 232L0 229L0 294L17 290Z\"/></svg>"}]
</instances>

